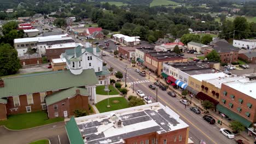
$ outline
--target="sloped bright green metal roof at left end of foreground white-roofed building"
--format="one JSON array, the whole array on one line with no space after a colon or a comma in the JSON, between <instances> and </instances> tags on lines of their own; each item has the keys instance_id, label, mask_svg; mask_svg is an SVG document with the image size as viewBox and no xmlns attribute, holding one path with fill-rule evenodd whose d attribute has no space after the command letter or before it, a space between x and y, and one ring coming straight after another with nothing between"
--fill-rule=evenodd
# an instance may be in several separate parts
<instances>
[{"instance_id":1,"label":"sloped bright green metal roof at left end of foreground white-roofed building","mask_svg":"<svg viewBox=\"0 0 256 144\"><path fill-rule=\"evenodd\" d=\"M77 127L77 122L75 122L74 117L70 118L65 128L70 144L84 144L83 137Z\"/></svg>"}]
</instances>

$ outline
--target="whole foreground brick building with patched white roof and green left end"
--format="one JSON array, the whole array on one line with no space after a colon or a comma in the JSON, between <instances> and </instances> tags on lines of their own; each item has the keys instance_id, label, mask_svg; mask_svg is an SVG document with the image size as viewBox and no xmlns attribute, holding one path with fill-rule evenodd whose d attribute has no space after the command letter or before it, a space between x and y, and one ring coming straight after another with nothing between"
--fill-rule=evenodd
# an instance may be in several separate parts
<instances>
[{"instance_id":1,"label":"whole foreground brick building with patched white roof and green left end","mask_svg":"<svg viewBox=\"0 0 256 144\"><path fill-rule=\"evenodd\" d=\"M191 141L189 125L177 113L161 103L72 117L65 127L71 144Z\"/></svg>"}]
</instances>

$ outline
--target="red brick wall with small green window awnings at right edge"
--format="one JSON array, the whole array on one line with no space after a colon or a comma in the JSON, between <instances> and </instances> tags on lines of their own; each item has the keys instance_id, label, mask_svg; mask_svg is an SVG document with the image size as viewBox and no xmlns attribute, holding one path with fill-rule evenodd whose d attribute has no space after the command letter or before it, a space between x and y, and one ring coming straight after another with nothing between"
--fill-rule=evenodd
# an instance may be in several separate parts
<instances>
[{"instance_id":1,"label":"red brick wall with small green window awnings at right edge","mask_svg":"<svg viewBox=\"0 0 256 144\"><path fill-rule=\"evenodd\" d=\"M223 94L224 91L227 92L226 96ZM231 98L230 98L231 94L235 96L234 100L231 100ZM223 104L222 99L226 100L226 104ZM242 105L239 104L238 99L242 99L243 100ZM229 103L233 104L232 109L229 107ZM252 104L252 108L251 109L248 109L247 103ZM240 91L236 91L236 89L233 89L233 88L231 88L229 86L226 86L226 85L222 84L222 89L221 89L221 92L220 92L220 103L219 104L225 106L226 108L228 108L229 110L237 113L238 115L246 118L248 121L256 122L256 116L255 116L255 112L256 112L256 99L254 99L252 97L249 97L248 95L246 95L246 94L244 94L244 93L242 93ZM242 109L241 113L239 113L237 111L237 107L241 107L241 109ZM246 116L246 114L245 114L246 112L251 113L249 118Z\"/></svg>"}]
</instances>

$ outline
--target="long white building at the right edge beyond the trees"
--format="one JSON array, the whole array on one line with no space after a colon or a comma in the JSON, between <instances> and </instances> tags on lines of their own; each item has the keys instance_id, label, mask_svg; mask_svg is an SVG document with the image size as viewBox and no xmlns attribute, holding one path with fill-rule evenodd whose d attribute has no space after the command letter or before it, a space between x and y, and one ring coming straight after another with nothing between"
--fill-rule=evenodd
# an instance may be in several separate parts
<instances>
[{"instance_id":1,"label":"long white building at the right edge beyond the trees","mask_svg":"<svg viewBox=\"0 0 256 144\"><path fill-rule=\"evenodd\" d=\"M245 47L246 49L255 49L256 48L256 39L240 39L234 40L233 46L235 47Z\"/></svg>"}]
</instances>

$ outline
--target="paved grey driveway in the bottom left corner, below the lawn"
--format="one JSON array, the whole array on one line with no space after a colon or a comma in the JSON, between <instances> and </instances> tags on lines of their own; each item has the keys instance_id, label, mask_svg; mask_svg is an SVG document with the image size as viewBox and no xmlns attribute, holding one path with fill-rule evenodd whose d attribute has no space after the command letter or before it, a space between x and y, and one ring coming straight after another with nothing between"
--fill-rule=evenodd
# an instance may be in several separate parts
<instances>
[{"instance_id":1,"label":"paved grey driveway in the bottom left corner, below the lawn","mask_svg":"<svg viewBox=\"0 0 256 144\"><path fill-rule=\"evenodd\" d=\"M32 119L31 119L32 120ZM65 122L58 122L42 127L13 131L0 127L1 143L26 144L39 139L49 139L53 144L69 143Z\"/></svg>"}]
</instances>

